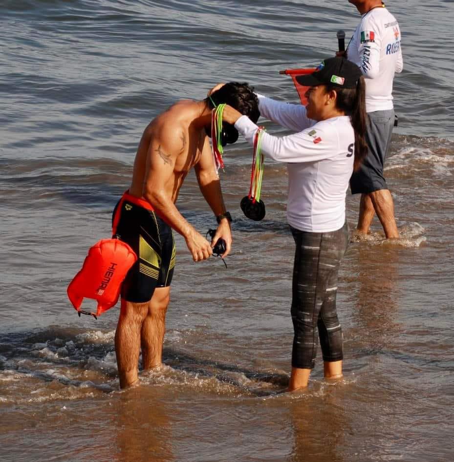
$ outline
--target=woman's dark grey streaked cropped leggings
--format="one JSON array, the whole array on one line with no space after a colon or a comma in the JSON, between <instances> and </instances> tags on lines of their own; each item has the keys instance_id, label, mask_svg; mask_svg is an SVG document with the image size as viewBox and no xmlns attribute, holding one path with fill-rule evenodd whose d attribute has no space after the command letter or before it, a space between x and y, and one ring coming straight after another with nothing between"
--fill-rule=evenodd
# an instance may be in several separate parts
<instances>
[{"instance_id":1,"label":"woman's dark grey streaked cropped leggings","mask_svg":"<svg viewBox=\"0 0 454 462\"><path fill-rule=\"evenodd\" d=\"M346 252L348 225L331 232L292 228L295 263L292 282L294 340L292 367L312 369L320 339L323 360L343 359L342 329L337 317L339 265Z\"/></svg>"}]
</instances>

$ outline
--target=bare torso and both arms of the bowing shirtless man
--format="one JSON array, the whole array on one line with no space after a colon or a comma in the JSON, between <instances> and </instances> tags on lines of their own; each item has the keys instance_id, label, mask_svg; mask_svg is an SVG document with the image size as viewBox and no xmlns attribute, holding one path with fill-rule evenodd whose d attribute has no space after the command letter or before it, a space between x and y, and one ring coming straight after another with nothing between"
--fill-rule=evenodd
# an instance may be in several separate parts
<instances>
[{"instance_id":1,"label":"bare torso and both arms of the bowing shirtless man","mask_svg":"<svg viewBox=\"0 0 454 462\"><path fill-rule=\"evenodd\" d=\"M157 116L145 129L137 149L130 194L150 202L162 218L185 239L195 261L212 254L210 243L175 207L189 170L195 167L202 193L216 215L225 213L219 179L205 127L211 110L205 102L183 100ZM226 241L230 252L230 224L226 220L214 238Z\"/></svg>"}]
</instances>

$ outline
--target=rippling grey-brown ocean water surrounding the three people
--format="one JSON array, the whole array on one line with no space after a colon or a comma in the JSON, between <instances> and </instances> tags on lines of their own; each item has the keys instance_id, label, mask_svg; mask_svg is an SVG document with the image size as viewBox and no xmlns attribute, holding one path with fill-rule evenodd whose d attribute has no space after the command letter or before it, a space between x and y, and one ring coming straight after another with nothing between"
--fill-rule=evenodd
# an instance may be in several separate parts
<instances>
[{"instance_id":1,"label":"rippling grey-brown ocean water surrounding the three people","mask_svg":"<svg viewBox=\"0 0 454 462\"><path fill-rule=\"evenodd\" d=\"M378 221L340 271L345 377L288 383L293 239L285 166L267 161L260 223L239 209L251 150L226 149L228 268L177 266L161 371L120 392L118 307L79 318L66 287L109 237L144 127L238 80L298 101L279 70L331 56L359 16L346 0L0 1L0 460L452 461L453 1L389 1L403 35L386 165L401 239ZM284 134L266 124L271 133ZM177 203L215 225L195 176ZM354 229L358 198L347 197ZM194 283L196 281L196 284ZM84 302L88 309L93 306Z\"/></svg>"}]
</instances>

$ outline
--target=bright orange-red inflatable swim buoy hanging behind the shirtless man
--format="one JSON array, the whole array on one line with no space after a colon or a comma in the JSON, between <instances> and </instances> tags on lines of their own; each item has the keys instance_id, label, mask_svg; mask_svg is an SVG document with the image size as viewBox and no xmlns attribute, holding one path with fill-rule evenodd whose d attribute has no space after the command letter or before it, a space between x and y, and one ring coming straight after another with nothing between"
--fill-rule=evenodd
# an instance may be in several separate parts
<instances>
[{"instance_id":1,"label":"bright orange-red inflatable swim buoy hanging behind the shirtless man","mask_svg":"<svg viewBox=\"0 0 454 462\"><path fill-rule=\"evenodd\" d=\"M67 294L79 316L103 314L112 308L120 296L126 274L137 261L137 255L126 242L102 239L88 251L82 269L70 282ZM96 314L80 309L84 298L98 302Z\"/></svg>"}]
</instances>

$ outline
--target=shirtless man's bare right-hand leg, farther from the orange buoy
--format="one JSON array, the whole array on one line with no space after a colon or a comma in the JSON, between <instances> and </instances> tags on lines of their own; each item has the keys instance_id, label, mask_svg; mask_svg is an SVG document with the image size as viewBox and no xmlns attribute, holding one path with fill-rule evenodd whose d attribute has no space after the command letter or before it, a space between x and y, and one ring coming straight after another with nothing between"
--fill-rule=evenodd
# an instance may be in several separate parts
<instances>
[{"instance_id":1,"label":"shirtless man's bare right-hand leg, farther from the orange buoy","mask_svg":"<svg viewBox=\"0 0 454 462\"><path fill-rule=\"evenodd\" d=\"M162 363L162 344L169 300L170 287L157 287L148 304L147 315L140 331L144 370L152 369Z\"/></svg>"}]
</instances>

